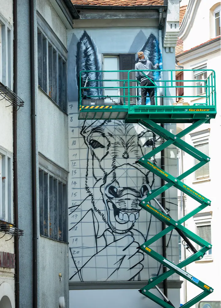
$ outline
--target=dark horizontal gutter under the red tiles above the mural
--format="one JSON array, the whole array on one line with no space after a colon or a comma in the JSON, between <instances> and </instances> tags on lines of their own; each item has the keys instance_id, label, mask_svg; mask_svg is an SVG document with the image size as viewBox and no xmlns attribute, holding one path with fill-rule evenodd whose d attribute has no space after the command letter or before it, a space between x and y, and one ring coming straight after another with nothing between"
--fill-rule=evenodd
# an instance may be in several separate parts
<instances>
[{"instance_id":1,"label":"dark horizontal gutter under the red tiles above the mural","mask_svg":"<svg viewBox=\"0 0 221 308\"><path fill-rule=\"evenodd\" d=\"M69 1L70 0L64 0ZM67 5L67 3L66 3ZM167 10L167 5L149 5L149 6L104 6L104 5L99 5L99 6L95 6L95 5L75 5L75 9L76 10L124 10L124 11L128 11L128 10Z\"/></svg>"}]
</instances>

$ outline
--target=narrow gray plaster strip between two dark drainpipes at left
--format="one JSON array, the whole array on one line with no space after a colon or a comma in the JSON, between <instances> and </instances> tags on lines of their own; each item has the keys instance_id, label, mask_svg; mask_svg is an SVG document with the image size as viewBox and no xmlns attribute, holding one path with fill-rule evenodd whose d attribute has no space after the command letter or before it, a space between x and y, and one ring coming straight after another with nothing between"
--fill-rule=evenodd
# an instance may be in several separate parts
<instances>
[{"instance_id":1,"label":"narrow gray plaster strip between two dark drainpipes at left","mask_svg":"<svg viewBox=\"0 0 221 308\"><path fill-rule=\"evenodd\" d=\"M20 307L32 307L32 175L30 109L29 1L18 0L18 95L24 107L18 111L18 222L24 230L19 239Z\"/></svg>"}]
</instances>

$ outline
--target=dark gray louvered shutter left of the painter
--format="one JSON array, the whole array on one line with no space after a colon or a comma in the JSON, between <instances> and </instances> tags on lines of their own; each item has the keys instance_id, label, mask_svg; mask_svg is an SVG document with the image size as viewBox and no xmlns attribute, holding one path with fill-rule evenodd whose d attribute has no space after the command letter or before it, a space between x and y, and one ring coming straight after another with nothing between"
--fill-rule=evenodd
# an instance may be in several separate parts
<instances>
[{"instance_id":1,"label":"dark gray louvered shutter left of the painter","mask_svg":"<svg viewBox=\"0 0 221 308\"><path fill-rule=\"evenodd\" d=\"M128 71L135 69L135 54L125 54L120 55L120 71L125 71L120 73L120 79L121 80L127 80L128 79ZM130 79L135 80L135 72L130 73ZM120 87L123 87L124 82L120 82ZM130 82L130 86L136 86L135 82ZM125 82L125 96L128 95L128 82ZM120 95L123 95L123 89L120 89ZM130 95L136 95L136 89L131 88L130 89ZM123 97L121 97L120 100L121 104L123 105ZM128 104L128 98L125 98L126 105ZM136 104L136 98L130 99L131 104Z\"/></svg>"}]
</instances>

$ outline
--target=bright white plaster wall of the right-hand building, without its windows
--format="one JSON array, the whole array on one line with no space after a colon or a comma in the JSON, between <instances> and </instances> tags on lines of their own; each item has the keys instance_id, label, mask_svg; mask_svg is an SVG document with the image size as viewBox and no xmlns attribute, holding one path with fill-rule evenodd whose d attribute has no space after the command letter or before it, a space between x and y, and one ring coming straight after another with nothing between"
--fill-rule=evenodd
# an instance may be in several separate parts
<instances>
[{"instance_id":1,"label":"bright white plaster wall of the right-hand building, without its windows","mask_svg":"<svg viewBox=\"0 0 221 308\"><path fill-rule=\"evenodd\" d=\"M190 1L191 4L192 1ZM214 23L214 20L211 18L210 9L214 9L217 1L199 1L200 5L196 12L196 16L189 20L190 31L181 32L184 38L184 51L189 50L191 48L196 47L202 43L205 43L207 40L214 38L215 35L211 32L212 26L211 22ZM189 4L189 5L190 5ZM196 2L194 2L196 4ZM198 3L199 4L199 3ZM187 9L187 13L189 11ZM184 23L184 22L183 22ZM191 26L190 26L191 24ZM188 27L187 27L188 28ZM182 37L181 37L182 38ZM215 47L219 44L219 47ZM220 156L220 143L219 136L221 134L220 128L220 116L221 116L221 108L219 104L220 100L220 70L218 69L218 63L220 63L220 41L219 43L211 43L207 45L207 47L200 47L195 51L191 51L186 55L180 55L177 57L179 62L184 65L184 70L193 70L196 67L203 66L206 64L207 69L213 69L216 73L216 102L217 102L217 115L215 119L211 120L210 124L203 124L197 129L193 130L193 132L198 132L198 136L208 138L209 141L209 157L211 160L209 162L209 178L204 180L196 180L194 173L189 175L184 179L184 183L195 189L195 191L203 194L205 197L211 200L211 206L208 206L200 213L208 213L208 216L211 215L211 238L212 238L212 257L211 259L206 259L205 257L202 260L193 262L188 265L187 271L194 275L197 279L200 279L208 286L214 288L214 292L211 293L207 298L202 301L216 301L220 302L220 222L219 222L219 191L220 191L220 181L219 174L221 171L219 164L219 156ZM210 72L209 72L210 73ZM208 73L208 74L209 74ZM184 80L193 79L192 71L184 71ZM193 83L185 83L186 85L191 85ZM193 88L184 88L184 95L191 96L193 95ZM204 99L202 98L184 98L184 102L188 102L190 105L194 103L204 103ZM179 125L180 126L180 125ZM186 128L188 124L184 125ZM204 132L201 132L206 130ZM201 132L201 133L200 133ZM190 134L185 136L185 141L193 145L193 137L191 138ZM184 153L183 156L183 164L184 164L184 172L191 168L194 165L194 158ZM192 198L186 196L185 209L190 212L192 209L199 206L199 203L194 201ZM199 213L199 214L200 214ZM186 227L190 229L192 232L196 233L196 219L194 221L193 218L190 218L187 222ZM187 252L187 257L189 256ZM185 284L183 284L181 289L181 299L183 300L183 294L185 293ZM200 290L194 286L193 284L187 282L186 284L186 294L187 301L191 298L195 297L200 293ZM181 303L184 303L181 300ZM196 304L198 307L198 304Z\"/></svg>"}]
</instances>

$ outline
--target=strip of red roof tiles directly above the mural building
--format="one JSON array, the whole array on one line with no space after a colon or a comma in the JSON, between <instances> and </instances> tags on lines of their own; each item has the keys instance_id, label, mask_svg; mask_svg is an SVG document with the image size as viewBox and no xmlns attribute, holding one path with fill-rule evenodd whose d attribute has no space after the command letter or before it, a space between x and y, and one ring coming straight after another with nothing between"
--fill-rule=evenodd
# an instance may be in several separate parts
<instances>
[{"instance_id":1,"label":"strip of red roof tiles directly above the mural building","mask_svg":"<svg viewBox=\"0 0 221 308\"><path fill-rule=\"evenodd\" d=\"M71 0L73 5L91 6L158 6L164 5L164 0Z\"/></svg>"}]
</instances>

